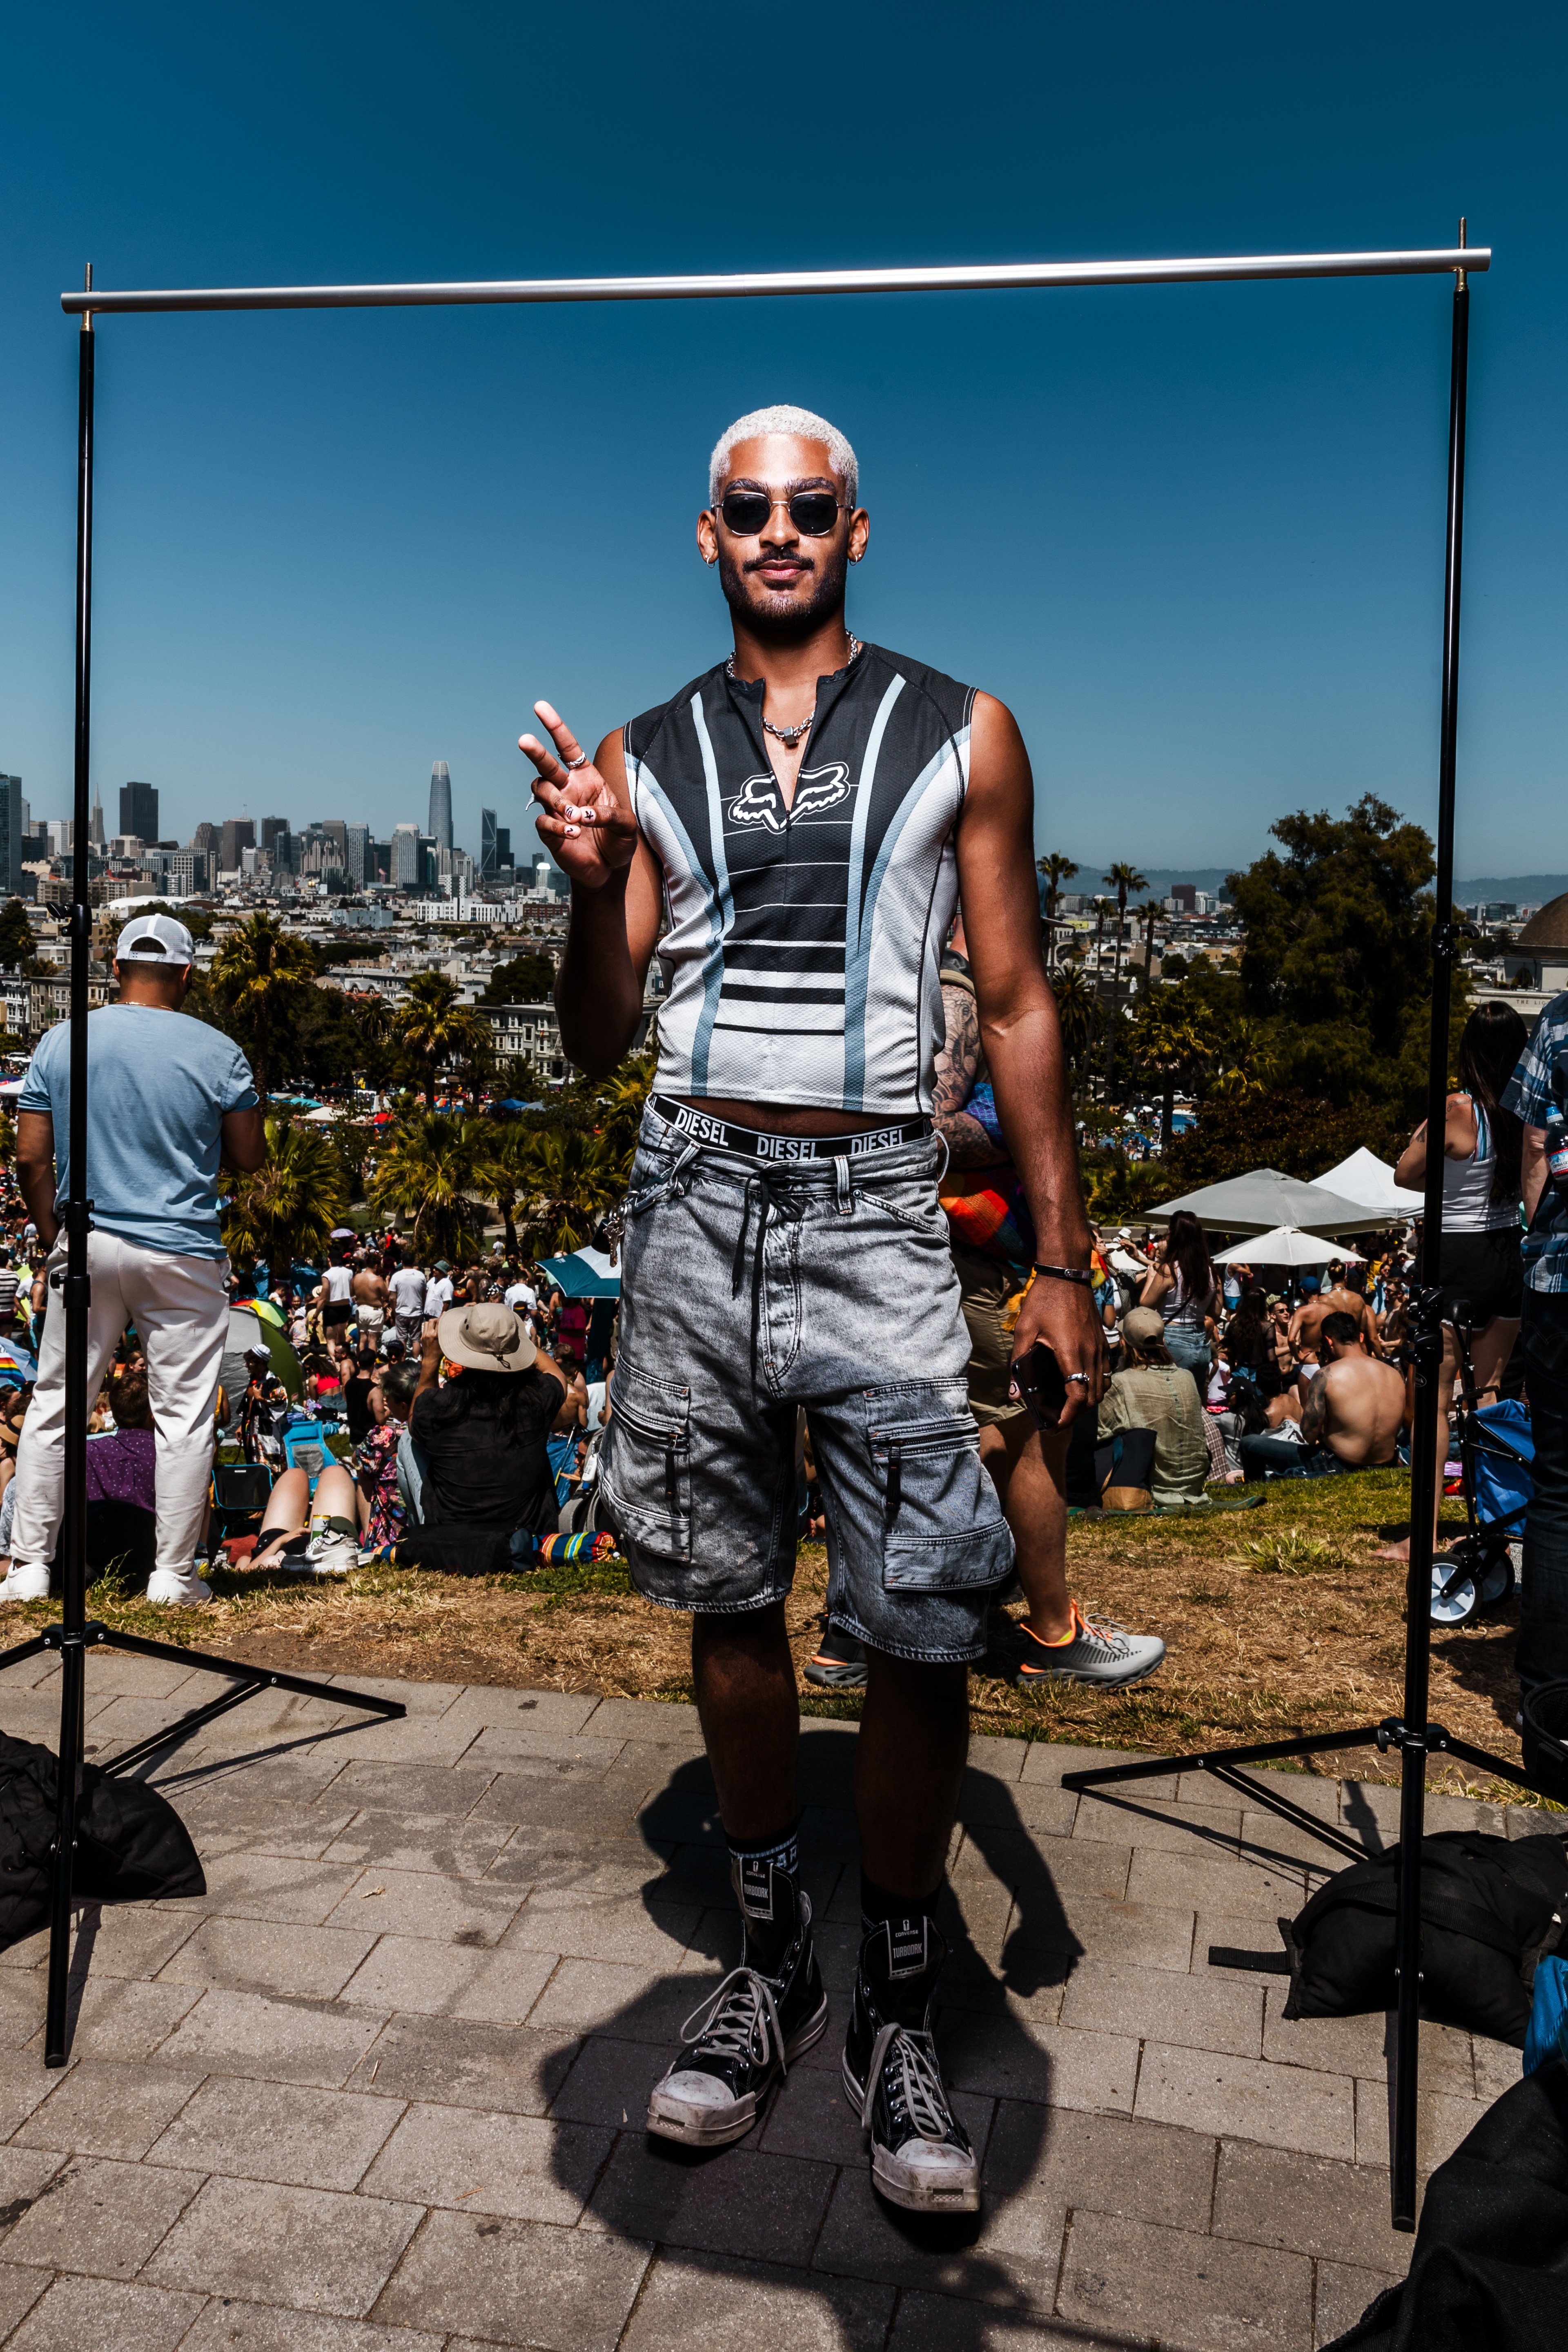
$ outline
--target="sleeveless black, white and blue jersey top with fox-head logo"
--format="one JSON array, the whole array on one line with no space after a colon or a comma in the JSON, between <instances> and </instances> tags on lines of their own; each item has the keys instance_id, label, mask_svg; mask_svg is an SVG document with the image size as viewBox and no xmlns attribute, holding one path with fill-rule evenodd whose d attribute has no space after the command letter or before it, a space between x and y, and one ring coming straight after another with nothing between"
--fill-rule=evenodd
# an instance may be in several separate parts
<instances>
[{"instance_id":1,"label":"sleeveless black, white and blue jersey top with fox-head logo","mask_svg":"<svg viewBox=\"0 0 1568 2352\"><path fill-rule=\"evenodd\" d=\"M656 1087L907 1120L931 1110L976 689L863 647L818 680L790 809L762 696L719 663L625 729L670 917Z\"/></svg>"}]
</instances>

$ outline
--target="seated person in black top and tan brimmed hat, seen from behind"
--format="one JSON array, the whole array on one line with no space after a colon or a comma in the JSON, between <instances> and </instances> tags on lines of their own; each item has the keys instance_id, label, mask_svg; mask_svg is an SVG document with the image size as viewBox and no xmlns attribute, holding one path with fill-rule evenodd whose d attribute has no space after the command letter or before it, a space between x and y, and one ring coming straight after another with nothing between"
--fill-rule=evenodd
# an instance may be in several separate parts
<instances>
[{"instance_id":1,"label":"seated person in black top and tan brimmed hat, seen from behind","mask_svg":"<svg viewBox=\"0 0 1568 2352\"><path fill-rule=\"evenodd\" d=\"M552 1534L545 1439L564 1395L564 1371L498 1298L428 1322L409 1414L425 1524Z\"/></svg>"}]
</instances>

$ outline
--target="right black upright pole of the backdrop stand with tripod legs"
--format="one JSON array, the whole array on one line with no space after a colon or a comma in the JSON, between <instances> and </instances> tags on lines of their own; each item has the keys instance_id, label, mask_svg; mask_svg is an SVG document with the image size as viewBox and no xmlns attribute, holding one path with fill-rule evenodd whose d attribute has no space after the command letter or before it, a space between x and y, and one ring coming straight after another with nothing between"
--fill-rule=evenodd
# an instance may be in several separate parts
<instances>
[{"instance_id":1,"label":"right black upright pole of the backdrop stand with tripod legs","mask_svg":"<svg viewBox=\"0 0 1568 2352\"><path fill-rule=\"evenodd\" d=\"M1460 245L1465 223L1460 221ZM1465 383L1469 358L1469 287L1465 270L1453 292L1453 362L1448 379L1448 562L1443 576L1443 720L1436 807L1436 917L1432 927L1432 1030L1427 1049L1427 1134L1441 1136L1448 1108L1448 1007L1453 983L1453 797L1455 739L1460 706L1460 555L1465 539ZM1305 1740L1272 1740L1262 1748L1215 1748L1197 1757L1147 1757L1105 1771L1063 1773L1063 1788L1107 1788L1119 1780L1147 1780L1154 1773L1208 1771L1232 1788L1246 1790L1267 1811L1312 1830L1326 1846L1352 1858L1363 1849L1302 1806L1291 1804L1239 1771L1241 1764L1265 1764L1279 1757L1324 1755L1335 1748L1378 1745L1385 1755L1399 1750L1399 1915L1394 1955L1399 1969L1399 2027L1394 2042L1394 2227L1415 2227L1415 2129L1420 2082L1420 1846L1427 1806L1427 1757L1446 1752L1462 1762L1533 1788L1516 1764L1450 1738L1441 1724L1427 1722L1432 1679L1432 1550L1439 1498L1439 1425L1436 1397L1443 1367L1443 1310L1439 1268L1443 1251L1443 1155L1427 1150L1427 1200L1422 1211L1422 1298L1415 1317L1415 1425L1410 1430L1410 1576L1406 1583L1406 1691L1403 1717L1361 1724L1354 1731L1316 1733Z\"/></svg>"}]
</instances>

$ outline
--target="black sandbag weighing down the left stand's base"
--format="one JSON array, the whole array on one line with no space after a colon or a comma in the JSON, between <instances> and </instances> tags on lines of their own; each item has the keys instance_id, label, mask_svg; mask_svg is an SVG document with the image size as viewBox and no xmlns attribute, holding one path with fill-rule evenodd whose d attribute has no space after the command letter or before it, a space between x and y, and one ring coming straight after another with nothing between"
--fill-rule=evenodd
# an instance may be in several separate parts
<instances>
[{"instance_id":1,"label":"black sandbag weighing down the left stand's base","mask_svg":"<svg viewBox=\"0 0 1568 2352\"><path fill-rule=\"evenodd\" d=\"M0 1731L0 1950L49 1919L54 1773L52 1750ZM99 1903L162 1903L205 1896L207 1879L167 1797L146 1780L118 1780L82 1764L71 1889Z\"/></svg>"}]
</instances>

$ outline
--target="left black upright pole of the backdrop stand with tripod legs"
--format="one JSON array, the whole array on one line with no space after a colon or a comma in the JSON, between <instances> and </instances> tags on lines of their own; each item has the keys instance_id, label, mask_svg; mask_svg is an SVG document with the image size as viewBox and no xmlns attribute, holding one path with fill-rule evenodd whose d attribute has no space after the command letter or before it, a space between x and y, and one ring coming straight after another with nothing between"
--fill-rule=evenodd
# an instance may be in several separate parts
<instances>
[{"instance_id":1,"label":"left black upright pole of the backdrop stand with tripod legs","mask_svg":"<svg viewBox=\"0 0 1568 2352\"><path fill-rule=\"evenodd\" d=\"M92 270L87 273L92 292ZM141 1658L169 1658L174 1665L193 1668L200 1675L223 1675L237 1689L205 1708L195 1708L167 1731L139 1740L108 1764L108 1771L127 1771L146 1755L172 1745L197 1724L209 1724L230 1708L254 1698L256 1691L299 1691L303 1698L322 1698L336 1708L364 1708L369 1715L404 1715L395 1698L371 1698L367 1691L339 1691L327 1682L306 1682L299 1675L273 1675L259 1665L242 1665L235 1658L216 1658L209 1651L181 1649L176 1642L143 1642L139 1635L113 1632L108 1625L87 1623L87 1310L92 1303L92 1277L87 1272L87 1235L92 1232L92 1202L87 1200L87 960L92 953L92 894L89 894L89 762L92 762L92 395L94 395L94 346L92 310L82 313L78 336L78 468L75 468L75 828L71 847L71 1124L68 1155L71 1176L66 1185L66 1268L61 1308L66 1319L66 1484L61 1519L61 1623L49 1625L35 1642L0 1651L0 1668L21 1658L35 1658L45 1649L61 1653L59 1693L59 1797L54 1811L54 1875L49 1884L49 2006L45 2020L45 2065L66 2065L68 2020L66 1990L71 1976L71 1872L75 1856L75 1809L82 1773L82 1726L87 1719L87 1651L113 1646L134 1651ZM56 1277L59 1279L59 1277Z\"/></svg>"}]
</instances>

